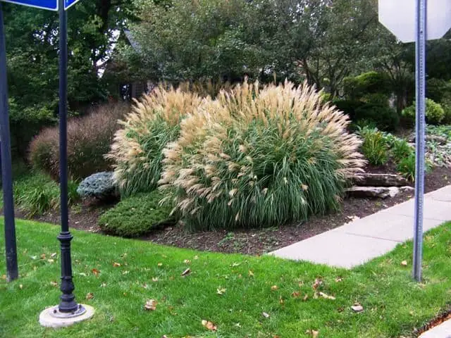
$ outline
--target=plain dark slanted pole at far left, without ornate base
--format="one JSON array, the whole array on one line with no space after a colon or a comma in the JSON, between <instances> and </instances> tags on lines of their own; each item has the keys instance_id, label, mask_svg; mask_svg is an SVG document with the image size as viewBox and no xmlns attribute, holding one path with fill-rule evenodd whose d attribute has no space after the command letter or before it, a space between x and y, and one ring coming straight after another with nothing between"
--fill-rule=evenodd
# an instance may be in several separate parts
<instances>
[{"instance_id":1,"label":"plain dark slanted pole at far left, without ornate base","mask_svg":"<svg viewBox=\"0 0 451 338\"><path fill-rule=\"evenodd\" d=\"M16 224L14 222L13 169L11 165L11 138L8 115L8 84L6 82L6 39L3 9L0 1L0 143L1 175L3 181L3 213L5 220L6 278L19 277L17 267Z\"/></svg>"}]
</instances>

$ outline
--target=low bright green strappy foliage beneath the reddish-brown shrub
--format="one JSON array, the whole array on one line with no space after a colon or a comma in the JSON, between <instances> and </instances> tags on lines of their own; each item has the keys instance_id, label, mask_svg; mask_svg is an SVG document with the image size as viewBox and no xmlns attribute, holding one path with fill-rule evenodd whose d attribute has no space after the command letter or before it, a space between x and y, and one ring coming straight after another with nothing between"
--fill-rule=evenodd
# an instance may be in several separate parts
<instances>
[{"instance_id":1,"label":"low bright green strappy foliage beneath the reddish-brown shrub","mask_svg":"<svg viewBox=\"0 0 451 338\"><path fill-rule=\"evenodd\" d=\"M79 200L76 192L78 184L68 182L68 202ZM14 182L14 200L27 215L42 215L52 208L60 206L60 189L58 183L43 173L28 173Z\"/></svg>"}]
</instances>

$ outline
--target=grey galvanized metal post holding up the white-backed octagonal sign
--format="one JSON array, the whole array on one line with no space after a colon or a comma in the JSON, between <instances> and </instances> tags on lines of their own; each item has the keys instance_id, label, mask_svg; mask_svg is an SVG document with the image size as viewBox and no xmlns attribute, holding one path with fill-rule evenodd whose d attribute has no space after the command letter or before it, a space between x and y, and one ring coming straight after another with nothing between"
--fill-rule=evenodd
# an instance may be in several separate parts
<instances>
[{"instance_id":1,"label":"grey galvanized metal post holding up the white-backed octagonal sign","mask_svg":"<svg viewBox=\"0 0 451 338\"><path fill-rule=\"evenodd\" d=\"M421 282L423 256L423 208L425 161L425 101L426 101L426 11L427 0L416 0L416 161L415 161L415 217L413 277Z\"/></svg>"}]
</instances>

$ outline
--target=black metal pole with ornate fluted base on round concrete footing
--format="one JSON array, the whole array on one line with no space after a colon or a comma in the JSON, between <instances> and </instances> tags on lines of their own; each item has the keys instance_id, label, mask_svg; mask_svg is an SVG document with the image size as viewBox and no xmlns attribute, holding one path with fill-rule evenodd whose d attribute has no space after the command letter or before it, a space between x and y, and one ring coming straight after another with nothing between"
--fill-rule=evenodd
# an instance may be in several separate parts
<instances>
[{"instance_id":1,"label":"black metal pole with ornate fluted base on round concrete footing","mask_svg":"<svg viewBox=\"0 0 451 338\"><path fill-rule=\"evenodd\" d=\"M61 189L61 301L58 310L61 313L77 311L72 280L72 261L70 258L70 241L68 217L68 168L67 168L67 112L68 112L68 22L64 9L65 0L58 0L59 8L59 182Z\"/></svg>"}]
</instances>

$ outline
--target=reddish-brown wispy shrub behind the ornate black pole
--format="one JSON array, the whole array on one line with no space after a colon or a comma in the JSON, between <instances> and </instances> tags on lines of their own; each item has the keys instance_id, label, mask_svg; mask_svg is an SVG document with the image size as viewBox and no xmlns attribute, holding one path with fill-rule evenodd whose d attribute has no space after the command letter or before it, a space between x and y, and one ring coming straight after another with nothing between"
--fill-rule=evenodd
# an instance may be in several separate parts
<instances>
[{"instance_id":1,"label":"reddish-brown wispy shrub behind the ornate black pole","mask_svg":"<svg viewBox=\"0 0 451 338\"><path fill-rule=\"evenodd\" d=\"M118 130L118 119L127 111L127 104L107 104L94 108L87 116L68 121L68 173L73 180L111 168L104 155ZM33 167L54 179L59 177L58 135L58 127L47 128L30 144Z\"/></svg>"}]
</instances>

